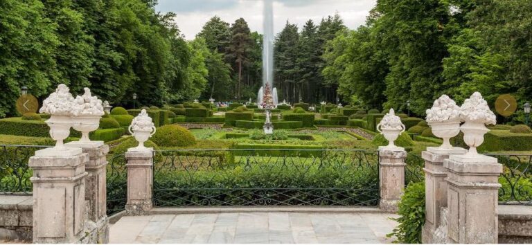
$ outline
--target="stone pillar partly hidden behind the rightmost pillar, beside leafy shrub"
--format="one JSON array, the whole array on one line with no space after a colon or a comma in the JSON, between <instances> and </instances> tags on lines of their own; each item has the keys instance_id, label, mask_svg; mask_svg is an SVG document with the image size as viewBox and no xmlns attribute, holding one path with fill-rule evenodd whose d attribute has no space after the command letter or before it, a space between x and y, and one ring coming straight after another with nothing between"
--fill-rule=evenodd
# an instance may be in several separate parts
<instances>
[{"instance_id":1,"label":"stone pillar partly hidden behind the rightmost pillar, beside leafy shrub","mask_svg":"<svg viewBox=\"0 0 532 245\"><path fill-rule=\"evenodd\" d=\"M447 207L447 170L443 161L450 154L465 154L467 150L459 147L439 149L427 147L421 152L425 160L425 226L423 226L422 240L424 244L439 243L434 241L436 228L440 225L441 208Z\"/></svg>"}]
</instances>

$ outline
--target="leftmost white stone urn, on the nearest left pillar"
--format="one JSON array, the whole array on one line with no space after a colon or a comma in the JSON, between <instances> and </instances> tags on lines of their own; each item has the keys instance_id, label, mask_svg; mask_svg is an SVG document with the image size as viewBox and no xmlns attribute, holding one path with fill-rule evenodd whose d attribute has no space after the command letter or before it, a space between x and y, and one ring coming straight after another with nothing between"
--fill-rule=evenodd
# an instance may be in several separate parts
<instances>
[{"instance_id":1,"label":"leftmost white stone urn, on the nearest left pillar","mask_svg":"<svg viewBox=\"0 0 532 245\"><path fill-rule=\"evenodd\" d=\"M43 101L40 113L50 114L46 124L50 127L50 136L56 140L55 150L66 149L63 140L70 135L70 128L74 125L71 116L74 116L78 108L74 98L69 93L69 88L65 84L59 84L55 92L51 93Z\"/></svg>"}]
</instances>

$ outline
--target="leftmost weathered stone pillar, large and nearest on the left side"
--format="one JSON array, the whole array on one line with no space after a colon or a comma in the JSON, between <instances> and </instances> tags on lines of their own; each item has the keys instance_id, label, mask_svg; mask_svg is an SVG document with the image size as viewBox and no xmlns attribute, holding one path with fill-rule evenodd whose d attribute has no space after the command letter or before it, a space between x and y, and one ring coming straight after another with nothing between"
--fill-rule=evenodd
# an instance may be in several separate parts
<instances>
[{"instance_id":1,"label":"leftmost weathered stone pillar, large and nearest on the left side","mask_svg":"<svg viewBox=\"0 0 532 245\"><path fill-rule=\"evenodd\" d=\"M80 148L42 149L33 169L33 242L78 243L85 237L85 164Z\"/></svg>"}]
</instances>

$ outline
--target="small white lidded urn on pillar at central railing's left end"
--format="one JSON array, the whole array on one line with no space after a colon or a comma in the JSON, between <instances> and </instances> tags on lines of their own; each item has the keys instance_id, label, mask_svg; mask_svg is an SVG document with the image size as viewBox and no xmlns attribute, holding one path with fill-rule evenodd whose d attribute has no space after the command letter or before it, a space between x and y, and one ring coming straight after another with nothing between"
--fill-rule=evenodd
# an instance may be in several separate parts
<instances>
[{"instance_id":1,"label":"small white lidded urn on pillar at central railing's left end","mask_svg":"<svg viewBox=\"0 0 532 245\"><path fill-rule=\"evenodd\" d=\"M130 134L135 137L136 141L139 141L139 145L134 148L127 149L128 152L150 152L152 149L145 147L144 143L155 134L157 129L152 123L152 118L148 116L145 109L142 109L141 113L133 118L130 127L128 128Z\"/></svg>"}]
</instances>

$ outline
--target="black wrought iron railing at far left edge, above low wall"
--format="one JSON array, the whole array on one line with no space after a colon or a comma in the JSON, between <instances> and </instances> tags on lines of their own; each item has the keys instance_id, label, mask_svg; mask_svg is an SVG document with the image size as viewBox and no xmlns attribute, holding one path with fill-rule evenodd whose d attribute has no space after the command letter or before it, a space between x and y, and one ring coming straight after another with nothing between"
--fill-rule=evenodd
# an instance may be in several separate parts
<instances>
[{"instance_id":1,"label":"black wrought iron railing at far left edge, above low wall","mask_svg":"<svg viewBox=\"0 0 532 245\"><path fill-rule=\"evenodd\" d=\"M33 171L28 166L35 151L49 146L0 145L0 194L31 194Z\"/></svg>"}]
</instances>

